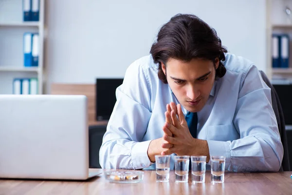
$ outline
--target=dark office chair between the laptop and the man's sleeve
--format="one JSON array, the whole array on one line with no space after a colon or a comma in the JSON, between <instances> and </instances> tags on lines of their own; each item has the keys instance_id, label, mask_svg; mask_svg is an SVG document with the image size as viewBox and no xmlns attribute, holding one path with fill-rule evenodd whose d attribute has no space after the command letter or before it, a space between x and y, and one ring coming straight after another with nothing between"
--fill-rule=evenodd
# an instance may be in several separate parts
<instances>
[{"instance_id":1,"label":"dark office chair between the laptop and the man's sleeve","mask_svg":"<svg viewBox=\"0 0 292 195\"><path fill-rule=\"evenodd\" d=\"M89 126L89 168L101 168L99 164L99 149L106 131L106 125Z\"/></svg>"}]
</instances>

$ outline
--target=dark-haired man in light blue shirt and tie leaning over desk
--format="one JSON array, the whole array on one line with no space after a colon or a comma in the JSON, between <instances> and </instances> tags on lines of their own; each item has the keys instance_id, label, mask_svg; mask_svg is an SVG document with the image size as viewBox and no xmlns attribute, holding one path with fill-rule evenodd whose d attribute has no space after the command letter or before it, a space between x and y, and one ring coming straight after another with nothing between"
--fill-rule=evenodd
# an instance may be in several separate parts
<instances>
[{"instance_id":1,"label":"dark-haired man in light blue shirt and tie leaning over desk","mask_svg":"<svg viewBox=\"0 0 292 195\"><path fill-rule=\"evenodd\" d=\"M100 149L103 168L154 169L155 155L226 156L235 172L278 171L283 146L271 90L214 29L176 15L127 69ZM187 122L187 120L189 122Z\"/></svg>"}]
</instances>

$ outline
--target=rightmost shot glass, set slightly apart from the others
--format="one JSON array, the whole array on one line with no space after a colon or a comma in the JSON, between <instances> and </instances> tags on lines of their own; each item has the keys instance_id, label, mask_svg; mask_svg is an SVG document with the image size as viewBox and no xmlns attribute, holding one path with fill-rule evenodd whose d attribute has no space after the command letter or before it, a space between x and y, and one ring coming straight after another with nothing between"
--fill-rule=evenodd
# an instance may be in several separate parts
<instances>
[{"instance_id":1,"label":"rightmost shot glass, set slightly apart from the others","mask_svg":"<svg viewBox=\"0 0 292 195\"><path fill-rule=\"evenodd\" d=\"M225 156L211 156L211 182L223 183Z\"/></svg>"}]
</instances>

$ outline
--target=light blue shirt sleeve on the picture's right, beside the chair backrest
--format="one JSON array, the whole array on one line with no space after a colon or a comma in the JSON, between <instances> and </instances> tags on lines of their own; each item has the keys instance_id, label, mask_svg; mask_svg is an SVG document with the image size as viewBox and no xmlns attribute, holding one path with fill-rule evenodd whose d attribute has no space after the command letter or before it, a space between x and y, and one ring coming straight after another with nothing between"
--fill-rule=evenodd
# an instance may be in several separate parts
<instances>
[{"instance_id":1,"label":"light blue shirt sleeve on the picture's right, beside the chair backrest","mask_svg":"<svg viewBox=\"0 0 292 195\"><path fill-rule=\"evenodd\" d=\"M234 125L240 138L233 141L207 140L210 156L226 156L225 169L235 172L276 172L283 159L271 89L255 65L242 78Z\"/></svg>"}]
</instances>

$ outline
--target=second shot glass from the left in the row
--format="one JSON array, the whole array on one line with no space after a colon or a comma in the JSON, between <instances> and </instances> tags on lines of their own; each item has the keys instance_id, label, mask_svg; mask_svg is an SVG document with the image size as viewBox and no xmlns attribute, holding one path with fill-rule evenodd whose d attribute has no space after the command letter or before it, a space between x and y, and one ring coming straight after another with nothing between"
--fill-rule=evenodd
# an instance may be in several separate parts
<instances>
[{"instance_id":1,"label":"second shot glass from the left in the row","mask_svg":"<svg viewBox=\"0 0 292 195\"><path fill-rule=\"evenodd\" d=\"M174 156L176 182L188 182L190 156Z\"/></svg>"}]
</instances>

